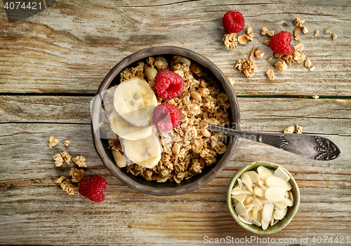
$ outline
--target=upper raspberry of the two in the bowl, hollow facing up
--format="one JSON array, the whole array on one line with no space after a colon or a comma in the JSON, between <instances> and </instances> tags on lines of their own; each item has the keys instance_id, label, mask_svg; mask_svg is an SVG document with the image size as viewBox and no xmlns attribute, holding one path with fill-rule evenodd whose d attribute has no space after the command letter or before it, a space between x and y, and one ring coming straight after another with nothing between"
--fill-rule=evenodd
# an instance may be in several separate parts
<instances>
[{"instance_id":1,"label":"upper raspberry of the two in the bowl, hollow facing up","mask_svg":"<svg viewBox=\"0 0 351 246\"><path fill-rule=\"evenodd\" d=\"M178 97L184 89L184 80L173 71L159 71L154 78L157 95L163 100L168 101Z\"/></svg>"}]
</instances>

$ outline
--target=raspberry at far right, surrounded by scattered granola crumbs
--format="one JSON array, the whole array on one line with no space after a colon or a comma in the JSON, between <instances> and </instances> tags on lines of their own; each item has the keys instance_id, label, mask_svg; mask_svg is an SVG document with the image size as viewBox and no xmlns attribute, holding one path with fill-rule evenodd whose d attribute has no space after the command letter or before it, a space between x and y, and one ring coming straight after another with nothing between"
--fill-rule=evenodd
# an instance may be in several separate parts
<instances>
[{"instance_id":1,"label":"raspberry at far right, surrounded by scattered granola crumbs","mask_svg":"<svg viewBox=\"0 0 351 246\"><path fill-rule=\"evenodd\" d=\"M289 55L293 53L291 33L282 31L270 38L270 49L276 54Z\"/></svg>"}]
</instances>

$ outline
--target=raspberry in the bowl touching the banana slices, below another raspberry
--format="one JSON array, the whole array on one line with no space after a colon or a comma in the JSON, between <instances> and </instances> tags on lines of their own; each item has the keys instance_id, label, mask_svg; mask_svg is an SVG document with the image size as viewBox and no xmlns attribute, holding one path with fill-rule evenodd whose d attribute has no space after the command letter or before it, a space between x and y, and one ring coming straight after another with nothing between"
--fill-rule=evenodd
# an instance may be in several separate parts
<instances>
[{"instance_id":1,"label":"raspberry in the bowl touching the banana slices, below another raspberry","mask_svg":"<svg viewBox=\"0 0 351 246\"><path fill-rule=\"evenodd\" d=\"M154 121L157 130L168 132L182 123L182 111L172 104L163 103L154 108L152 121Z\"/></svg>"}]
</instances>

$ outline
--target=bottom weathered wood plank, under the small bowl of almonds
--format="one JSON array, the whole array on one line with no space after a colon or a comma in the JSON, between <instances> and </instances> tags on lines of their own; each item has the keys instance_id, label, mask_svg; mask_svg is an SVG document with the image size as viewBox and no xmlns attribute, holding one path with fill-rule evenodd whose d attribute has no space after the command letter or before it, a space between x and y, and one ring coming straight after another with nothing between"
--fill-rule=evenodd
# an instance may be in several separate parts
<instances>
[{"instance_id":1,"label":"bottom weathered wood plank, under the small bowl of almonds","mask_svg":"<svg viewBox=\"0 0 351 246\"><path fill-rule=\"evenodd\" d=\"M328 136L345 151L329 162L306 160L240 139L232 160L212 182L182 196L155 197L129 189L104 168L93 150L89 125L3 123L0 135L1 243L201 245L204 236L250 237L253 234L230 217L225 194L234 173L253 160L281 163L300 186L298 214L270 238L350 234L350 136ZM60 140L53 149L47 146L49 135ZM55 168L52 160L54 153L65 149L64 139L71 141L69 153L86 157L87 176L107 179L103 203L92 203L78 194L68 196L54 184L70 168Z\"/></svg>"}]
</instances>

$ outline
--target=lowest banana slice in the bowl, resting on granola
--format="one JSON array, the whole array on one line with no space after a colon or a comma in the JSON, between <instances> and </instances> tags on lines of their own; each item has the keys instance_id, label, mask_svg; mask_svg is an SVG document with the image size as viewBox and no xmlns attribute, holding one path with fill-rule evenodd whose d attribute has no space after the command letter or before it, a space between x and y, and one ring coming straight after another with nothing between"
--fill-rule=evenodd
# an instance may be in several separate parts
<instances>
[{"instance_id":1,"label":"lowest banana slice in the bowl, resting on granola","mask_svg":"<svg viewBox=\"0 0 351 246\"><path fill-rule=\"evenodd\" d=\"M154 168L161 159L161 146L156 135L144 139L128 140L122 142L124 154L138 165L144 168Z\"/></svg>"}]
</instances>

